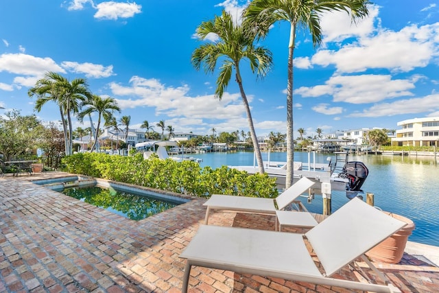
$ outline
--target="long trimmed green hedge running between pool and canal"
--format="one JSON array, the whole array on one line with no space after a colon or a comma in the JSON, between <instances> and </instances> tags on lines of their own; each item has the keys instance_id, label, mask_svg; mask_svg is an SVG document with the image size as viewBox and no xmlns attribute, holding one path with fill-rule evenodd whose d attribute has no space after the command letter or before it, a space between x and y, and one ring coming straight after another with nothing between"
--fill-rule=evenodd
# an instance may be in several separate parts
<instances>
[{"instance_id":1,"label":"long trimmed green hedge running between pool and canal","mask_svg":"<svg viewBox=\"0 0 439 293\"><path fill-rule=\"evenodd\" d=\"M64 171L104 178L189 196L210 197L212 194L275 198L276 179L267 174L248 174L226 166L201 168L192 161L161 160L156 156L143 159L134 156L110 156L80 153L62 159Z\"/></svg>"}]
</instances>

